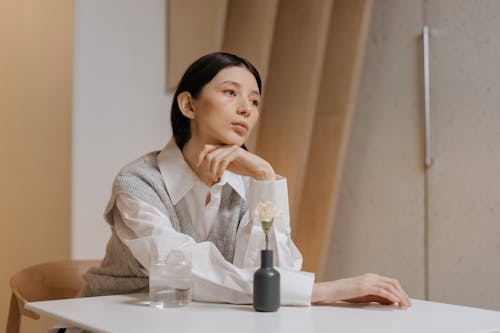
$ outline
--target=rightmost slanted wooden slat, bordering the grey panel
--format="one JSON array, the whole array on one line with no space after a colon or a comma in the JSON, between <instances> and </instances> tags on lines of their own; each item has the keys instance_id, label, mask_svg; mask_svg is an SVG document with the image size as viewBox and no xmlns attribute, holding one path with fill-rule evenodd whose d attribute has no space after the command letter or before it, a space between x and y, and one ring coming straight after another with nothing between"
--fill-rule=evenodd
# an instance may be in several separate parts
<instances>
[{"instance_id":1,"label":"rightmost slanted wooden slat, bordering the grey panel","mask_svg":"<svg viewBox=\"0 0 500 333\"><path fill-rule=\"evenodd\" d=\"M304 270L319 273L356 107L371 0L336 0L296 223Z\"/></svg>"}]
</instances>

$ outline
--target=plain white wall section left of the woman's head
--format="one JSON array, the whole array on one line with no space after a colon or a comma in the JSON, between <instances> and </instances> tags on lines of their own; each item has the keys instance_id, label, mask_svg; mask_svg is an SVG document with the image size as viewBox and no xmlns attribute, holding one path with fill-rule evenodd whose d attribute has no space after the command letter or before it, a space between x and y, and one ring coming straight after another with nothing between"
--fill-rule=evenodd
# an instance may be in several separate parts
<instances>
[{"instance_id":1,"label":"plain white wall section left of the woman's head","mask_svg":"<svg viewBox=\"0 0 500 333\"><path fill-rule=\"evenodd\" d=\"M165 0L75 1L72 256L101 258L111 184L171 135Z\"/></svg>"}]
</instances>

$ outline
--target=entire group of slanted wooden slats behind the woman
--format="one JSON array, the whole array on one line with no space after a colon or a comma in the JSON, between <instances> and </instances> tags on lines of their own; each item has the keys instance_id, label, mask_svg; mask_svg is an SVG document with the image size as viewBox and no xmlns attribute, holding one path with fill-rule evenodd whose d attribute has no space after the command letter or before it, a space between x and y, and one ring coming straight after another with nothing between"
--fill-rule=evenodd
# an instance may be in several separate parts
<instances>
[{"instance_id":1,"label":"entire group of slanted wooden slats behind the woman","mask_svg":"<svg viewBox=\"0 0 500 333\"><path fill-rule=\"evenodd\" d=\"M267 83L247 145L287 177L292 229L314 272L335 214L372 7L333 3L169 1L169 87L219 49L248 58Z\"/></svg>"}]
</instances>

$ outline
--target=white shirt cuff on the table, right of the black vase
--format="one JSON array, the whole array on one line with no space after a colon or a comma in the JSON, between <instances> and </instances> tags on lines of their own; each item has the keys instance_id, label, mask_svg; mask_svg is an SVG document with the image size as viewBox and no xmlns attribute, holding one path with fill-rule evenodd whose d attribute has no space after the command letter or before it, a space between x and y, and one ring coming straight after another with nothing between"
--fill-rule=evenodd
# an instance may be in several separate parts
<instances>
[{"instance_id":1,"label":"white shirt cuff on the table, right of the black vase","mask_svg":"<svg viewBox=\"0 0 500 333\"><path fill-rule=\"evenodd\" d=\"M310 306L314 273L276 267L281 276L281 304Z\"/></svg>"}]
</instances>

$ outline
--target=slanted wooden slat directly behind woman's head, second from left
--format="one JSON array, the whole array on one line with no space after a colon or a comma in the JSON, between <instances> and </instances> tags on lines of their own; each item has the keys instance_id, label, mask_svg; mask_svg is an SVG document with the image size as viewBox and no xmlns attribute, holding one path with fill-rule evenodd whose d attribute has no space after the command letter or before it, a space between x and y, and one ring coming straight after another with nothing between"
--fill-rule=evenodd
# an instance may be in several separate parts
<instances>
[{"instance_id":1,"label":"slanted wooden slat directly behind woman's head, second from left","mask_svg":"<svg viewBox=\"0 0 500 333\"><path fill-rule=\"evenodd\" d=\"M259 71L264 90L277 9L278 0L231 0L227 9L222 50L250 60ZM258 124L246 142L251 151L257 143Z\"/></svg>"}]
</instances>

